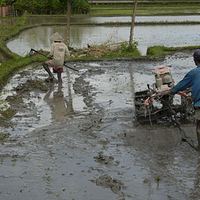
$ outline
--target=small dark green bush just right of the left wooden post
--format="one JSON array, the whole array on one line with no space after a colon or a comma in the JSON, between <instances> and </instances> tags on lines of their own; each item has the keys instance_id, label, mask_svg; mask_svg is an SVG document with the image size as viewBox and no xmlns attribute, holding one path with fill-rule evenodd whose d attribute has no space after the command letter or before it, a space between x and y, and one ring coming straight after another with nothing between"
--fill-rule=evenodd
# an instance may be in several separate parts
<instances>
[{"instance_id":1,"label":"small dark green bush just right of the left wooden post","mask_svg":"<svg viewBox=\"0 0 200 200\"><path fill-rule=\"evenodd\" d=\"M90 4L87 0L73 0L72 13L73 14L87 14L90 11Z\"/></svg>"}]
</instances>

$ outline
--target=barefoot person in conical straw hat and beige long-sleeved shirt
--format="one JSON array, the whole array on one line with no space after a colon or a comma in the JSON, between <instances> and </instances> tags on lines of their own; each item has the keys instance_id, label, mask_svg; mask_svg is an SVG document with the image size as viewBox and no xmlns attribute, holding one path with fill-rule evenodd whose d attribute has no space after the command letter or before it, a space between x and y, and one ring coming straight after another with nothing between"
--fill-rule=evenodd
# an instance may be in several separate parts
<instances>
[{"instance_id":1,"label":"barefoot person in conical straw hat and beige long-sleeved shirt","mask_svg":"<svg viewBox=\"0 0 200 200\"><path fill-rule=\"evenodd\" d=\"M54 33L50 40L53 41L51 44L51 51L47 55L48 58L52 58L52 60L46 61L43 63L44 69L49 74L49 77L46 79L47 81L56 80L49 69L49 66L53 68L53 73L57 73L58 82L62 82L61 73L63 72L64 62L67 62L70 58L70 52L68 50L67 45L63 43L63 37L58 33Z\"/></svg>"}]
</instances>

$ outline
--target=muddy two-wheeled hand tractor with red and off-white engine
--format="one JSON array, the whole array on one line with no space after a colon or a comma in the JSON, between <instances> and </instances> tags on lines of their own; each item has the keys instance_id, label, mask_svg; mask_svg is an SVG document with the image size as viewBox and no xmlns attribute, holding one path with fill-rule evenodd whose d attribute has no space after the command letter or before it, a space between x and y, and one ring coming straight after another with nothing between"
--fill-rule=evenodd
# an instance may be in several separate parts
<instances>
[{"instance_id":1,"label":"muddy two-wheeled hand tractor with red and off-white engine","mask_svg":"<svg viewBox=\"0 0 200 200\"><path fill-rule=\"evenodd\" d=\"M162 122L171 120L176 124L191 123L195 120L192 103L192 91L187 89L177 95L169 93L174 86L169 67L157 68L154 71L155 83L147 89L135 93L135 114L140 123Z\"/></svg>"}]
</instances>

